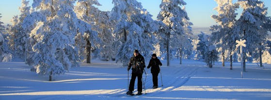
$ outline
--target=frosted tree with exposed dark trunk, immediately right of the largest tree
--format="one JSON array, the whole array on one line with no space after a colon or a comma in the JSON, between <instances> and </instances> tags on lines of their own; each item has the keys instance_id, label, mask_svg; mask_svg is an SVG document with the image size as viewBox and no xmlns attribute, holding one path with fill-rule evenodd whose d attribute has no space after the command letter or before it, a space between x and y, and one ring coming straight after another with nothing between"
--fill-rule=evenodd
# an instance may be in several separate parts
<instances>
[{"instance_id":1,"label":"frosted tree with exposed dark trunk, immediately right of the largest tree","mask_svg":"<svg viewBox=\"0 0 271 100\"><path fill-rule=\"evenodd\" d=\"M109 21L109 12L100 11L95 6L101 6L98 0L78 0L75 6L75 12L79 19L89 23L92 26L92 30L98 33L98 37L102 40L100 42L99 38L96 37L94 40L87 41L89 45L85 53L82 56L86 56L86 63L90 63L90 53L92 49L99 49L100 56L106 59L113 58L112 50L112 23Z\"/></svg>"}]
</instances>

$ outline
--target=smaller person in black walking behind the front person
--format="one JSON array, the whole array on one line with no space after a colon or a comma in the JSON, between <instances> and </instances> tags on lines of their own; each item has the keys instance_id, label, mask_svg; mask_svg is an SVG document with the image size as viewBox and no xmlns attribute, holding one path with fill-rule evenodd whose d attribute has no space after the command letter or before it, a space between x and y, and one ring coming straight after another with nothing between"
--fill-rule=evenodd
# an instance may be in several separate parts
<instances>
[{"instance_id":1,"label":"smaller person in black walking behind the front person","mask_svg":"<svg viewBox=\"0 0 271 100\"><path fill-rule=\"evenodd\" d=\"M156 54L152 54L148 69L151 67L153 88L158 88L158 74L160 72L159 66L162 66L160 60L156 57Z\"/></svg>"}]
</instances>

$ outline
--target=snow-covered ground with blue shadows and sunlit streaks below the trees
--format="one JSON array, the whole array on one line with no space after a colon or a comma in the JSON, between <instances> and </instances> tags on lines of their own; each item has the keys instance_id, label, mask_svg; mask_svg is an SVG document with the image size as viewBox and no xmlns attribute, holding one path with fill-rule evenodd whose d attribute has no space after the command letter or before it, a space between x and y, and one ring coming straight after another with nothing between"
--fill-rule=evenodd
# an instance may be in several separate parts
<instances>
[{"instance_id":1,"label":"snow-covered ground with blue shadows and sunlit streaks below the trees","mask_svg":"<svg viewBox=\"0 0 271 100\"><path fill-rule=\"evenodd\" d=\"M169 67L162 63L163 86L159 74L159 88L152 89L150 69L145 69L147 94L127 96L127 68L114 62L81 64L55 76L53 82L31 72L24 62L0 62L0 100L271 100L271 65L259 68L249 63L240 78L239 63L233 64L233 70L220 62L211 69L194 60L182 65L175 60Z\"/></svg>"}]
</instances>

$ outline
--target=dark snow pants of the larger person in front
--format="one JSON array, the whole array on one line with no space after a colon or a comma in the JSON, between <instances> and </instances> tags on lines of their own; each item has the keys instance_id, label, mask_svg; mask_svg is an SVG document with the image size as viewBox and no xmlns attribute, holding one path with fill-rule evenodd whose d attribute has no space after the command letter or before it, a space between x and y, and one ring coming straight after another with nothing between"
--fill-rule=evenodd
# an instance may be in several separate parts
<instances>
[{"instance_id":1,"label":"dark snow pants of the larger person in front","mask_svg":"<svg viewBox=\"0 0 271 100\"><path fill-rule=\"evenodd\" d=\"M137 91L142 92L142 74L141 73L132 73L132 78L129 85L129 91L134 91L136 77L137 77Z\"/></svg>"}]
</instances>

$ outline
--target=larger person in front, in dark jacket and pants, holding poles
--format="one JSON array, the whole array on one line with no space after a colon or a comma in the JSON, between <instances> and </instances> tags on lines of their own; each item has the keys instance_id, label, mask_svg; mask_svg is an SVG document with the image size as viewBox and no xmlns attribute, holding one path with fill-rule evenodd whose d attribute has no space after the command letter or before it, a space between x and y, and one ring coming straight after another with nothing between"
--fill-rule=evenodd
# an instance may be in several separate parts
<instances>
[{"instance_id":1,"label":"larger person in front, in dark jacket and pants, holding poles","mask_svg":"<svg viewBox=\"0 0 271 100\"><path fill-rule=\"evenodd\" d=\"M130 62L128 64L128 71L132 68L132 78L129 85L129 91L126 93L127 95L133 95L135 79L137 77L137 95L142 95L142 74L145 68L145 60L144 57L139 53L138 50L134 50L134 55L131 57Z\"/></svg>"}]
</instances>

